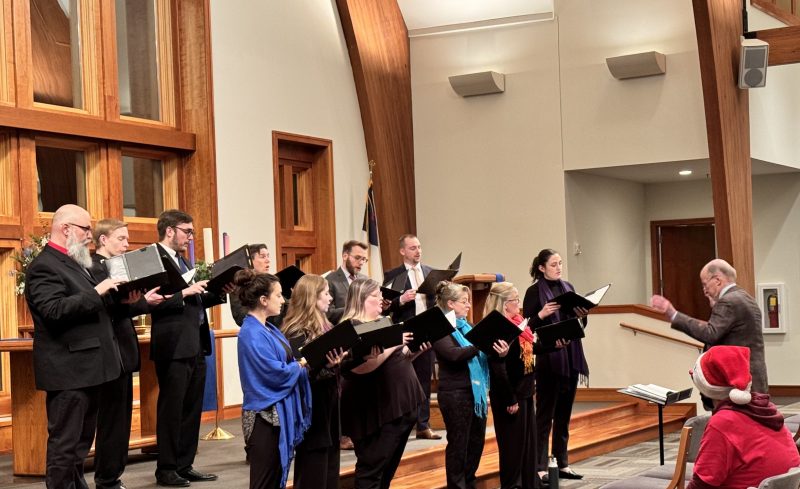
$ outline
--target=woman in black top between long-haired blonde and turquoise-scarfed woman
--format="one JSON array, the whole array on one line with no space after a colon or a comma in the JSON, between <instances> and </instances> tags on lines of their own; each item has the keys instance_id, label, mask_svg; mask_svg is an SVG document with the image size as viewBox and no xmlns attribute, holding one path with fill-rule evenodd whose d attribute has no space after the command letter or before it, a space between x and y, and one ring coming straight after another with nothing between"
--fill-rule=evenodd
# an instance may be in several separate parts
<instances>
[{"instance_id":1,"label":"woman in black top between long-haired blonde and turquoise-scarfed woman","mask_svg":"<svg viewBox=\"0 0 800 489\"><path fill-rule=\"evenodd\" d=\"M347 292L342 322L362 324L381 317L380 284L357 278ZM353 440L356 453L355 489L388 488L400 464L408 435L425 400L411 361L430 348L423 344L412 353L403 345L372 351L346 361L342 382L342 431Z\"/></svg>"}]
</instances>

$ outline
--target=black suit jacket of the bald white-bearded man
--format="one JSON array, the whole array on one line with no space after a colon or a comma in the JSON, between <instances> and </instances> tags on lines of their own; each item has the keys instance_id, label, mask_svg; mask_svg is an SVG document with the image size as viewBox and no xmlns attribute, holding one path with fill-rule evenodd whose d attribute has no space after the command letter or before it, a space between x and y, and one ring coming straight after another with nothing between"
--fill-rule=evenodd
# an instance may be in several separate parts
<instances>
[{"instance_id":1,"label":"black suit jacket of the bald white-bearded man","mask_svg":"<svg viewBox=\"0 0 800 489\"><path fill-rule=\"evenodd\" d=\"M89 272L51 246L28 266L25 299L33 317L37 389L82 389L119 377L111 315L95 285Z\"/></svg>"}]
</instances>

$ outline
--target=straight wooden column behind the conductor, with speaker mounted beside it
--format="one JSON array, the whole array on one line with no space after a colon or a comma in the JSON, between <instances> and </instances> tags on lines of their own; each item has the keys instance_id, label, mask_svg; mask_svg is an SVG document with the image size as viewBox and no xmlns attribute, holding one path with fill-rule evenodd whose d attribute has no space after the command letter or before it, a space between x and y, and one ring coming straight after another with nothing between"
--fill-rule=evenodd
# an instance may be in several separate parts
<instances>
[{"instance_id":1,"label":"straight wooden column behind the conductor, with speaker mounted beside it","mask_svg":"<svg viewBox=\"0 0 800 489\"><path fill-rule=\"evenodd\" d=\"M711 163L717 256L738 272L737 283L755 292L753 194L747 90L737 84L740 0L693 0Z\"/></svg>"}]
</instances>

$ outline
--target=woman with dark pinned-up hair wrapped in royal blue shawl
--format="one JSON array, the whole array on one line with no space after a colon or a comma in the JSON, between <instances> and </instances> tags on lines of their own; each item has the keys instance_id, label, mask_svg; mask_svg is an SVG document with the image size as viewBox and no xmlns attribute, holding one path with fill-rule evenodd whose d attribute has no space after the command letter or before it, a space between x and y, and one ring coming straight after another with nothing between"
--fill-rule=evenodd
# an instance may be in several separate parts
<instances>
[{"instance_id":1,"label":"woman with dark pinned-up hair wrapped in royal blue shawl","mask_svg":"<svg viewBox=\"0 0 800 489\"><path fill-rule=\"evenodd\" d=\"M248 311L239 331L238 352L250 489L279 489L286 486L294 449L311 424L311 386L289 341L267 322L285 302L278 278L248 269L236 273L235 283L239 301Z\"/></svg>"}]
</instances>

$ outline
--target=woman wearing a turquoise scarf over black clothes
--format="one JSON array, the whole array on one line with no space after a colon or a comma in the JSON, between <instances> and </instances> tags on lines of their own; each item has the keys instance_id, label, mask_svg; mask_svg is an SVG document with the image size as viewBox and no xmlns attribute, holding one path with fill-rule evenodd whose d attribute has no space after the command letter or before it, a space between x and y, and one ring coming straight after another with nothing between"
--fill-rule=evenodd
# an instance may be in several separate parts
<instances>
[{"instance_id":1,"label":"woman wearing a turquoise scarf over black clothes","mask_svg":"<svg viewBox=\"0 0 800 489\"><path fill-rule=\"evenodd\" d=\"M433 344L439 362L437 399L447 428L445 471L448 489L475 487L475 472L483 454L486 415L489 411L489 364L486 355L465 335L472 329L467 322L469 289L452 282L439 282L436 304L448 317L455 317L455 331ZM508 344L494 345L500 357Z\"/></svg>"}]
</instances>

